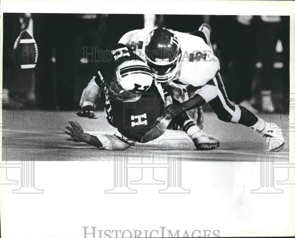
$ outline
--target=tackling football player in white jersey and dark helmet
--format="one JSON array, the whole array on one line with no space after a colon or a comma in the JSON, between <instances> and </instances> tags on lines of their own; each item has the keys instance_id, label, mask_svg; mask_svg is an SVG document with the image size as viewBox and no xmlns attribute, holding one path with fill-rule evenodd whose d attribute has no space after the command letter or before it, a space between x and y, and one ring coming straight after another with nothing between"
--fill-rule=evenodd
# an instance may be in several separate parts
<instances>
[{"instance_id":1,"label":"tackling football player in white jersey and dark helmet","mask_svg":"<svg viewBox=\"0 0 295 238\"><path fill-rule=\"evenodd\" d=\"M266 138L270 150L282 149L284 138L276 124L265 122L227 98L210 33L207 24L190 34L165 28L144 28L126 33L119 43L130 46L148 63L157 83L168 85L168 91L172 89L170 94L174 101L166 108L168 118L209 103L220 120L250 127ZM191 120L183 127L189 123ZM194 129L196 127L194 125Z\"/></svg>"}]
</instances>

